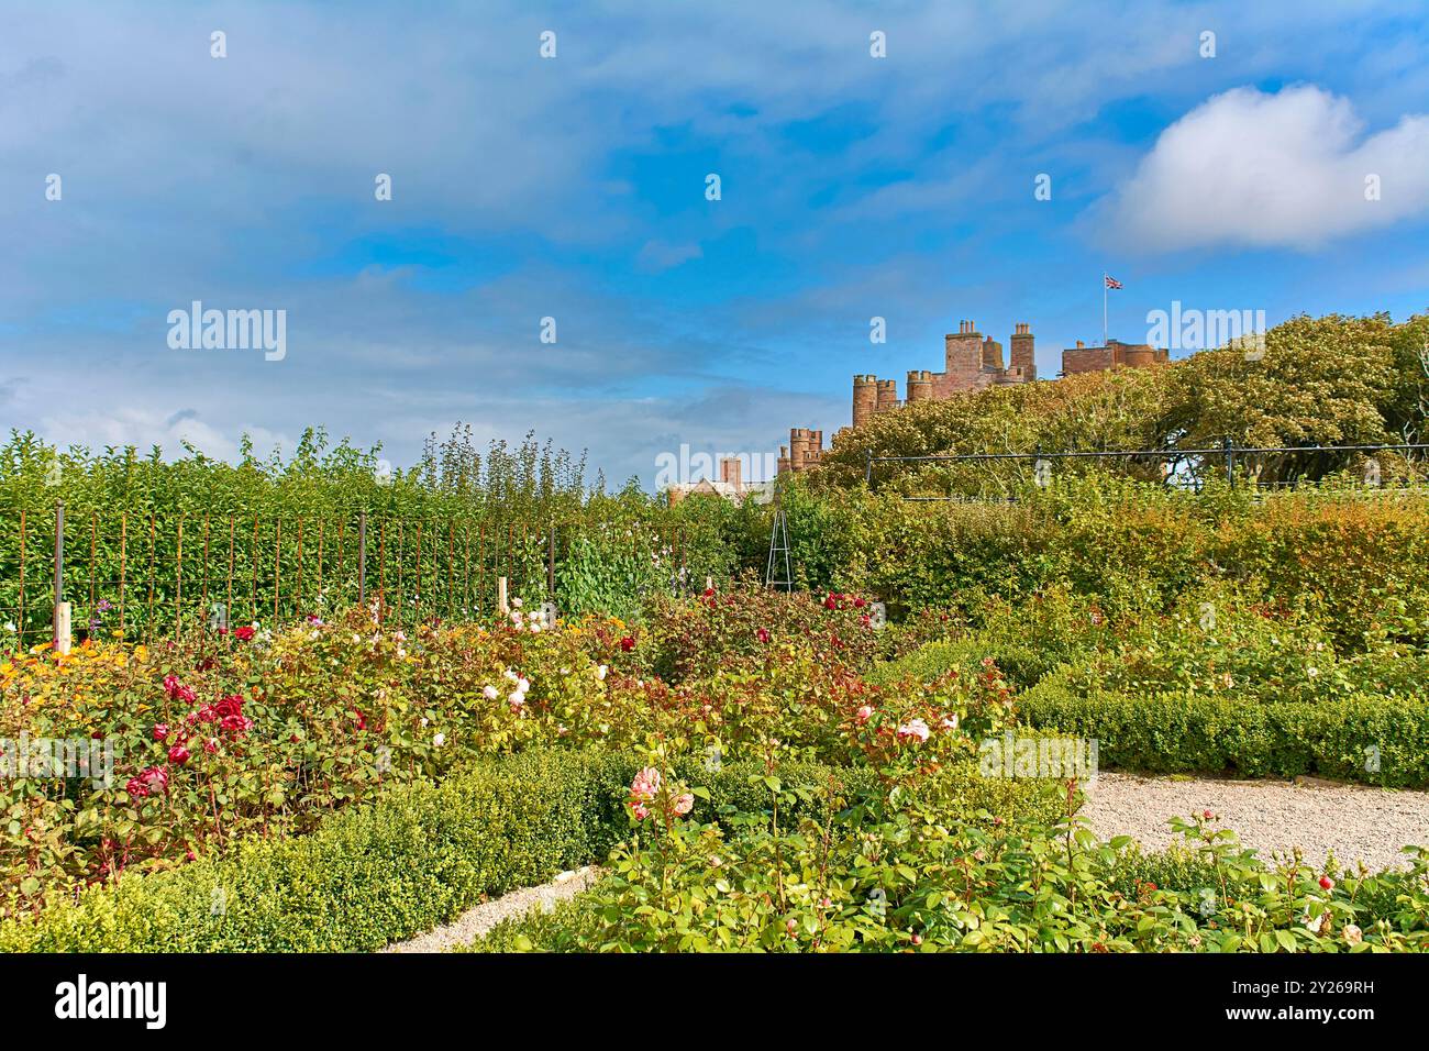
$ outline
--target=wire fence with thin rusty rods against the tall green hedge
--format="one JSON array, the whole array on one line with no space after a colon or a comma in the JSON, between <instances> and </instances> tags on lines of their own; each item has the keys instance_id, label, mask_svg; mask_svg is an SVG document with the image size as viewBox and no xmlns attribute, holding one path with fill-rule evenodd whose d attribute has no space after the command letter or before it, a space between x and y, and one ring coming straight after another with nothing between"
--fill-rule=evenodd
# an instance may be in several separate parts
<instances>
[{"instance_id":1,"label":"wire fence with thin rusty rods against the tall green hedge","mask_svg":"<svg viewBox=\"0 0 1429 1051\"><path fill-rule=\"evenodd\" d=\"M530 603L553 599L582 523L406 518L164 516L114 512L0 515L0 652L71 638L151 642L186 631L277 625L380 601L402 625L474 621L497 611L499 581ZM660 552L683 588L684 532L652 523L634 541Z\"/></svg>"}]
</instances>

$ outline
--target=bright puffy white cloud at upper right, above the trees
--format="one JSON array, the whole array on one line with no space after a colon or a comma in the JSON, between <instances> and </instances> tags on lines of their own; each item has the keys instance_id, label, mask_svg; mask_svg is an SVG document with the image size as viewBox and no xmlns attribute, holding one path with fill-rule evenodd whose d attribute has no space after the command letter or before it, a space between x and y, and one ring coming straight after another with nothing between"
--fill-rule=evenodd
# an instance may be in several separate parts
<instances>
[{"instance_id":1,"label":"bright puffy white cloud at upper right, above the trees","mask_svg":"<svg viewBox=\"0 0 1429 1051\"><path fill-rule=\"evenodd\" d=\"M1319 247L1429 213L1429 116L1363 136L1350 102L1319 87L1240 87L1167 127L1095 213L1150 252Z\"/></svg>"}]
</instances>

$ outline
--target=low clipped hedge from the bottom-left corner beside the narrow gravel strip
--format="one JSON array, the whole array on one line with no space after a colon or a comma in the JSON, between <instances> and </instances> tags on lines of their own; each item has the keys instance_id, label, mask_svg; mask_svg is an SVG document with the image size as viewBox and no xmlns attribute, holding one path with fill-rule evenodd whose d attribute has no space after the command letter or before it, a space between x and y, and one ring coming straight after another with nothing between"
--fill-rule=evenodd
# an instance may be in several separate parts
<instances>
[{"instance_id":1,"label":"low clipped hedge from the bottom-left corner beside the narrow gravel strip","mask_svg":"<svg viewBox=\"0 0 1429 1051\"><path fill-rule=\"evenodd\" d=\"M253 839L180 869L123 878L40 914L0 921L3 952L356 952L410 938L504 891L604 859L629 831L624 789L637 762L617 754L529 752L393 788L339 812L312 835ZM760 812L759 764L684 775L710 789L697 819L730 808ZM826 816L830 799L876 785L863 769L786 764L785 784L826 786L799 804ZM982 782L969 771L966 806L1049 819L1039 785Z\"/></svg>"}]
</instances>

